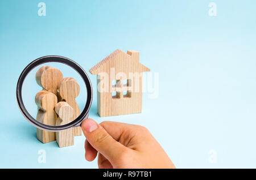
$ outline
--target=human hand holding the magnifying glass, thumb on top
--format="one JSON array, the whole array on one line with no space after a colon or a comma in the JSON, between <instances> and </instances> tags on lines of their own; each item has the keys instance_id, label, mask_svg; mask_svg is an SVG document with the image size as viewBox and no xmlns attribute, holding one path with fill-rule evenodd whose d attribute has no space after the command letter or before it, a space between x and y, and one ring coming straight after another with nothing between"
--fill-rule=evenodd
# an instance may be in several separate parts
<instances>
[{"instance_id":1,"label":"human hand holding the magnifying glass, thumb on top","mask_svg":"<svg viewBox=\"0 0 256 180\"><path fill-rule=\"evenodd\" d=\"M160 144L143 126L93 119L82 122L85 159L98 153L98 168L175 168Z\"/></svg>"}]
</instances>

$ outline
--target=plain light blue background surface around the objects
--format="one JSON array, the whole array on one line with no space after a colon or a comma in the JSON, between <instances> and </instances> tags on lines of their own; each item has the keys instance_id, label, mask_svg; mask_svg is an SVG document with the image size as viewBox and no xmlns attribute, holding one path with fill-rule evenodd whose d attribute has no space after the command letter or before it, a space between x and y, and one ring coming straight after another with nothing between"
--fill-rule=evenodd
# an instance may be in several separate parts
<instances>
[{"instance_id":1,"label":"plain light blue background surface around the objects","mask_svg":"<svg viewBox=\"0 0 256 180\"><path fill-rule=\"evenodd\" d=\"M36 58L63 55L89 73L115 49L138 50L159 72L159 97L144 93L141 114L100 118L94 96L90 118L146 126L177 168L256 168L256 2L214 0L217 16L209 16L210 2L1 0L0 168L97 168L84 159L84 136L67 148L40 143L15 88Z\"/></svg>"}]
</instances>

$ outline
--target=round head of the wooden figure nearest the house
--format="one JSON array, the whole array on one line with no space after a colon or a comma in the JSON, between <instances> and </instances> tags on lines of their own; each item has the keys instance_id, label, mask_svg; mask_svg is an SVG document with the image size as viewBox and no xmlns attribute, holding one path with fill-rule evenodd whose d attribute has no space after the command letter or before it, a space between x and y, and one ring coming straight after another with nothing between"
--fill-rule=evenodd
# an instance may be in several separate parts
<instances>
[{"instance_id":1,"label":"round head of the wooden figure nearest the house","mask_svg":"<svg viewBox=\"0 0 256 180\"><path fill-rule=\"evenodd\" d=\"M67 99L75 99L79 96L80 86L74 78L64 78L59 84L60 96Z\"/></svg>"}]
</instances>

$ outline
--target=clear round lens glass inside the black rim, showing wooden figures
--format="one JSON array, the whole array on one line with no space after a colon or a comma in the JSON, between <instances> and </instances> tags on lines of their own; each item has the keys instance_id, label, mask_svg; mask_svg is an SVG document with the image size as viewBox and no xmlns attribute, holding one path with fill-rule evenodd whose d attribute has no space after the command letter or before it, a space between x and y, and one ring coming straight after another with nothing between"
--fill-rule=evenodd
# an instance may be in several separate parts
<instances>
[{"instance_id":1,"label":"clear round lens glass inside the black rim, showing wooden figures","mask_svg":"<svg viewBox=\"0 0 256 180\"><path fill-rule=\"evenodd\" d=\"M86 86L73 68L62 63L45 63L27 75L22 98L36 121L61 126L81 114L86 102Z\"/></svg>"}]
</instances>

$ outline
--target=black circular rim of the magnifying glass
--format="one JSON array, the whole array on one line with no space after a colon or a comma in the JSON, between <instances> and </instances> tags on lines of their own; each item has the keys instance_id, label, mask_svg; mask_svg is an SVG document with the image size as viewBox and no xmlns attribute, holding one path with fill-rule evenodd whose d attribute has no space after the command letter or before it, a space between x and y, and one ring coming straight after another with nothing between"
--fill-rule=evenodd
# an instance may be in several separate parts
<instances>
[{"instance_id":1,"label":"black circular rim of the magnifying glass","mask_svg":"<svg viewBox=\"0 0 256 180\"><path fill-rule=\"evenodd\" d=\"M59 62L59 63L64 63L65 65L68 65L72 67L74 70L76 70L81 78L84 80L84 83L86 85L87 89L87 99L86 99L86 104L84 110L82 110L81 114L79 117L77 117L74 121L68 123L67 125L62 125L62 126L49 126L49 125L44 125L43 123L40 123L34 119L30 113L28 113L27 109L25 108L22 100L22 85L24 82L24 79L26 79L27 74L34 69L36 66L42 65L43 63L48 63L48 62ZM47 55L44 57L40 57L38 59L35 59L32 61L27 67L24 68L22 73L19 76L18 83L16 86L16 98L18 102L18 106L20 109L20 112L22 115L27 119L28 122L30 122L32 125L42 129L42 130L47 130L47 131L62 131L66 130L71 127L76 127L80 126L81 122L88 117L89 109L90 106L92 105L92 99L93 99L93 89L92 89L92 83L90 82L89 76L86 74L84 69L77 64L75 61L62 57L59 55Z\"/></svg>"}]
</instances>

